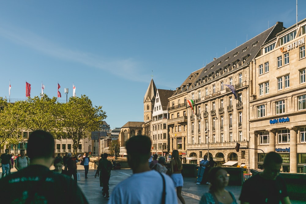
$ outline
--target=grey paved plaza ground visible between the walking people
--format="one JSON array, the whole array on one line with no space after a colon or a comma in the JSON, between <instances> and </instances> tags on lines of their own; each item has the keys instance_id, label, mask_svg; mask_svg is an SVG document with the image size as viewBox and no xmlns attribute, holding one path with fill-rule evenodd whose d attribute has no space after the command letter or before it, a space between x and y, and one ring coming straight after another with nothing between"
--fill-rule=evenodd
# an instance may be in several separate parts
<instances>
[{"instance_id":1,"label":"grey paved plaza ground visible between the walking people","mask_svg":"<svg viewBox=\"0 0 306 204\"><path fill-rule=\"evenodd\" d=\"M81 165L77 165L78 172L81 175L81 180L78 181L79 187L84 192L84 195L88 199L88 202L91 204L95 203L107 203L108 199L103 198L102 196L102 187L100 187L99 177L95 178L95 169L89 169L88 171L88 179L85 179L84 175L84 167ZM50 169L54 169L51 166ZM0 169L0 172L2 170ZM14 168L12 172L16 172ZM119 169L112 170L110 176L110 194L114 187L120 183L122 180L125 180L129 176L132 175L132 169ZM188 204L197 204L200 201L201 196L208 191L209 185L196 185L196 178L184 177L184 186L182 188L182 195L185 199L185 202ZM228 186L227 190L231 191L235 198L238 201L241 186ZM154 189L152 189L154 191ZM148 198L149 199L149 198ZM291 201L292 204L305 204L305 201ZM181 203L178 200L178 203ZM238 201L240 203L240 201Z\"/></svg>"}]
</instances>

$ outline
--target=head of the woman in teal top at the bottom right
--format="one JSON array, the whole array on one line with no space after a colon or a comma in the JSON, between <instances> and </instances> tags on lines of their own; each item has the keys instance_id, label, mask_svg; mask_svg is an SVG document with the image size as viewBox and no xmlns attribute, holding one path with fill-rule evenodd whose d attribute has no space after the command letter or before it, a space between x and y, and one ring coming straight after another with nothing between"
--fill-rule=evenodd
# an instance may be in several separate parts
<instances>
[{"instance_id":1,"label":"head of the woman in teal top at the bottom right","mask_svg":"<svg viewBox=\"0 0 306 204\"><path fill-rule=\"evenodd\" d=\"M211 190L222 189L229 184L230 174L222 167L214 167L208 172L208 180Z\"/></svg>"}]
</instances>

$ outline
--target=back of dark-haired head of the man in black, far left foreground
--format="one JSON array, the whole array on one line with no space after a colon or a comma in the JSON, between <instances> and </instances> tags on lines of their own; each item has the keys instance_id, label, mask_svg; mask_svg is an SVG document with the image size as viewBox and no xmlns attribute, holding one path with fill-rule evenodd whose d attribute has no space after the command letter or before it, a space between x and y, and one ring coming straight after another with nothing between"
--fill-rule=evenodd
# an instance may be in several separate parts
<instances>
[{"instance_id":1,"label":"back of dark-haired head of the man in black, far left foreground","mask_svg":"<svg viewBox=\"0 0 306 204\"><path fill-rule=\"evenodd\" d=\"M49 132L35 130L29 136L27 153L32 160L36 158L54 158L53 136Z\"/></svg>"}]
</instances>

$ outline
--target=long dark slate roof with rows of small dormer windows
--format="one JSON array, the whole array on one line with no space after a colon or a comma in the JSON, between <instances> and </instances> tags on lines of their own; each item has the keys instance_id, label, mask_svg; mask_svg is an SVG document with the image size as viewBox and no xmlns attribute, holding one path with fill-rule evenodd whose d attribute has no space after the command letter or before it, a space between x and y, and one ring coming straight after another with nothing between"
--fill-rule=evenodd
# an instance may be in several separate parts
<instances>
[{"instance_id":1,"label":"long dark slate roof with rows of small dormer windows","mask_svg":"<svg viewBox=\"0 0 306 204\"><path fill-rule=\"evenodd\" d=\"M283 23L277 22L271 28L268 28L264 32L248 40L242 45L236 47L235 49L229 51L221 57L218 57L217 59L214 58L214 61L211 61L205 67L192 72L181 84L181 86L176 89L175 93L172 96L187 91L187 85L189 86L189 90L195 87L198 83L202 84L207 77L211 77L213 75L216 78L219 77L219 72L223 71L226 66L232 67L233 62L237 62L236 66L240 67L243 62L242 59L244 57L247 57L246 60L243 62L243 65L246 65L248 62L252 61L259 54L261 54L261 46L264 43L275 38L277 33L282 31L283 29Z\"/></svg>"}]
</instances>

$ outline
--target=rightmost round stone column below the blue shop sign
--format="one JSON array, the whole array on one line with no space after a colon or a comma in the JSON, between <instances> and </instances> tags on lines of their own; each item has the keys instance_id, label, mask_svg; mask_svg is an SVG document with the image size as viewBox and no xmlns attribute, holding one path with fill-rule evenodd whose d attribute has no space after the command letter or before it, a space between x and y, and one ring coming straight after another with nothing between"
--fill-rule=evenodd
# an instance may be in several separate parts
<instances>
[{"instance_id":1,"label":"rightmost round stone column below the blue shop sign","mask_svg":"<svg viewBox=\"0 0 306 204\"><path fill-rule=\"evenodd\" d=\"M297 128L290 130L290 173L297 173Z\"/></svg>"}]
</instances>

